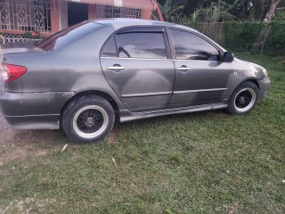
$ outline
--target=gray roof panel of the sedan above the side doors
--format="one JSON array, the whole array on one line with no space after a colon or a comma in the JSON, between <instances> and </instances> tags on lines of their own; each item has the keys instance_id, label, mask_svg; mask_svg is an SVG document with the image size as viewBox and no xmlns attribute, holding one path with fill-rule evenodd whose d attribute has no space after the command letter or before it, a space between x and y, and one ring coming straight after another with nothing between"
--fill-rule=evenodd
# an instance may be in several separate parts
<instances>
[{"instance_id":1,"label":"gray roof panel of the sedan above the side doors","mask_svg":"<svg viewBox=\"0 0 285 214\"><path fill-rule=\"evenodd\" d=\"M198 32L196 29L191 29L183 25L177 25L174 23L166 21L151 21L151 20L142 20L142 19L127 19L127 18L111 18L111 19L99 19L93 20L92 22L102 24L102 25L111 25L115 29L130 27L130 26L164 26L164 27L175 27L180 29L190 29L191 31Z\"/></svg>"}]
</instances>

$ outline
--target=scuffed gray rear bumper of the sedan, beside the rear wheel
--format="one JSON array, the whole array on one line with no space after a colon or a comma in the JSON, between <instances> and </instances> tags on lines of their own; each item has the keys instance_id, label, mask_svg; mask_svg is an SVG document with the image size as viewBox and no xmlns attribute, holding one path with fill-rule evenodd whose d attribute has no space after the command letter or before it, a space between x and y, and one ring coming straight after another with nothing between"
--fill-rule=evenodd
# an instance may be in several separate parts
<instances>
[{"instance_id":1,"label":"scuffed gray rear bumper of the sedan, beside the rear wheel","mask_svg":"<svg viewBox=\"0 0 285 214\"><path fill-rule=\"evenodd\" d=\"M0 111L13 128L58 129L61 110L74 93L0 94Z\"/></svg>"}]
</instances>

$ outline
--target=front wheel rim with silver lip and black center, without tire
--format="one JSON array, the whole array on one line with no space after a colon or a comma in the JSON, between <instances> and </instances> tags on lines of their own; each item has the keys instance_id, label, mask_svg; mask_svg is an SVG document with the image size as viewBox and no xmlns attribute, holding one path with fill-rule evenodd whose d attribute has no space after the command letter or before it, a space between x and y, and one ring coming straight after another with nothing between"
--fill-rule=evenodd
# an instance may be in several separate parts
<instances>
[{"instance_id":1,"label":"front wheel rim with silver lip and black center, without tire","mask_svg":"<svg viewBox=\"0 0 285 214\"><path fill-rule=\"evenodd\" d=\"M245 112L250 110L256 103L256 92L252 88L244 88L234 98L234 108Z\"/></svg>"}]
</instances>

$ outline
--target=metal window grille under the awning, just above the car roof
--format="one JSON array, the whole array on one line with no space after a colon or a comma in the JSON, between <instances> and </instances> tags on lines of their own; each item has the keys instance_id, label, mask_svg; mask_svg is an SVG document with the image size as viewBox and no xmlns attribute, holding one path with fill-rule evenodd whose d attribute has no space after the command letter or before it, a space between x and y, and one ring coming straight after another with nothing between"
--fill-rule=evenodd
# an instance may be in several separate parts
<instances>
[{"instance_id":1,"label":"metal window grille under the awning, just above the car roof","mask_svg":"<svg viewBox=\"0 0 285 214\"><path fill-rule=\"evenodd\" d=\"M125 7L96 5L96 18L141 18L141 10L129 9Z\"/></svg>"}]
</instances>

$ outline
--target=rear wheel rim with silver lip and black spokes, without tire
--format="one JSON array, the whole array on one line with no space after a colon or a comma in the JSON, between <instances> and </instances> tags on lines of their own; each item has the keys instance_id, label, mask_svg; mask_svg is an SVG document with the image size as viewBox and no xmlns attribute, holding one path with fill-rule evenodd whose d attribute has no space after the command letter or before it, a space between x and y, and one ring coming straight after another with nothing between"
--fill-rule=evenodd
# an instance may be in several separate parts
<instances>
[{"instance_id":1,"label":"rear wheel rim with silver lip and black spokes, without tire","mask_svg":"<svg viewBox=\"0 0 285 214\"><path fill-rule=\"evenodd\" d=\"M73 119L73 128L78 136L92 139L101 136L109 123L108 113L98 105L79 109Z\"/></svg>"}]
</instances>

